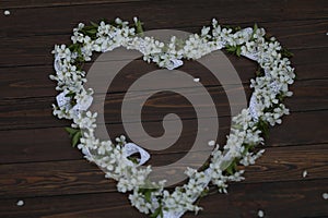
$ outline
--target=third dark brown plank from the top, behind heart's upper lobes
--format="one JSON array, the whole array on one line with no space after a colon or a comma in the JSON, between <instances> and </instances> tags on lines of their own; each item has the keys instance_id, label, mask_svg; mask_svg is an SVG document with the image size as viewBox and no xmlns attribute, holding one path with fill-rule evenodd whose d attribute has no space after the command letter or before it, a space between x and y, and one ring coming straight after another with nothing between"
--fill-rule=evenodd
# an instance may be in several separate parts
<instances>
[{"instance_id":1,"label":"third dark brown plank from the top, behind heart's upper lobes","mask_svg":"<svg viewBox=\"0 0 328 218\"><path fill-rule=\"evenodd\" d=\"M326 70L328 69L327 57L328 48L315 48L315 49L297 49L293 50L294 58L292 63L295 66L297 74L297 81L313 80L313 78L328 78ZM321 53L323 56L318 56ZM254 77L255 63L245 59L238 59L234 56L227 55L234 68L237 70L241 81L248 83ZM315 59L312 57L316 57ZM119 82L110 86L110 90L124 92L121 84L129 83L129 81L138 80L145 72L143 61L134 61L136 66L131 66L128 71L119 74ZM213 80L210 80L209 74L201 73L199 65L187 64L180 69L188 72L192 76L201 77L201 83L204 86L213 85ZM89 70L91 64L85 65L85 71ZM11 98L27 98L27 97L42 97L42 96L56 96L55 82L49 80L49 75L54 73L52 65L31 65L20 68L0 68L0 96L2 99ZM28 76L26 76L28 75ZM215 84L215 83L214 83ZM301 87L303 82L296 82L293 86ZM292 86L292 87L293 87ZM294 88L297 92L297 88ZM315 90L315 93L317 93Z\"/></svg>"}]
</instances>

